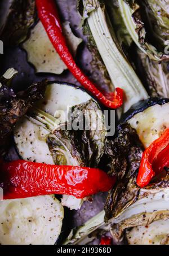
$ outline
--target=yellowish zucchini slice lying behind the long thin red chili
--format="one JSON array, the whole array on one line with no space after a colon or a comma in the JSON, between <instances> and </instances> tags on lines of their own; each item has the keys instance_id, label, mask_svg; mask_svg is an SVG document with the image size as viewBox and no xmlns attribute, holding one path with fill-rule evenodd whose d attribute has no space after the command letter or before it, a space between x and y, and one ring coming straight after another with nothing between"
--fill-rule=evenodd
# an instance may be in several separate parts
<instances>
[{"instance_id":1,"label":"yellowish zucchini slice lying behind the long thin red chili","mask_svg":"<svg viewBox=\"0 0 169 256\"><path fill-rule=\"evenodd\" d=\"M63 29L66 42L75 55L82 39L74 36L68 21L63 23ZM28 54L28 62L34 65L37 73L47 72L60 75L67 69L59 54L56 53L41 21L32 29L29 39L23 44L23 48Z\"/></svg>"}]
</instances>

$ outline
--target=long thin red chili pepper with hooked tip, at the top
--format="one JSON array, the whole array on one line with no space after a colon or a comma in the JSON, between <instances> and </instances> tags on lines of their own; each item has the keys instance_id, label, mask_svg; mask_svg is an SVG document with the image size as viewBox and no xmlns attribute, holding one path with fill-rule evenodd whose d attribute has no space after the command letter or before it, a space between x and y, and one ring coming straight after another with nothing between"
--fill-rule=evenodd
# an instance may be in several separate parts
<instances>
[{"instance_id":1,"label":"long thin red chili pepper with hooked tip, at the top","mask_svg":"<svg viewBox=\"0 0 169 256\"><path fill-rule=\"evenodd\" d=\"M36 0L36 5L39 19L46 29L50 41L74 77L106 107L112 109L121 107L123 104L123 90L121 88L117 88L114 93L110 94L111 99L106 98L75 64L72 54L66 46L54 0Z\"/></svg>"}]
</instances>

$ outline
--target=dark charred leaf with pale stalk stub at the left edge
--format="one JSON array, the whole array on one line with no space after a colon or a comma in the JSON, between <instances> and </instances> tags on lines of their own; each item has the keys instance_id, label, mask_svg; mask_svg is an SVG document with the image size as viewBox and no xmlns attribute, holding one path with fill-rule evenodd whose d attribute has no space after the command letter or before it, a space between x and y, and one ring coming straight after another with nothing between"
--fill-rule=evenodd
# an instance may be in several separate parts
<instances>
[{"instance_id":1,"label":"dark charred leaf with pale stalk stub at the left edge","mask_svg":"<svg viewBox=\"0 0 169 256\"><path fill-rule=\"evenodd\" d=\"M1 154L6 150L10 143L10 135L17 121L26 114L34 102L41 99L45 92L46 82L35 83L25 92L15 94L9 85L14 70L11 69L1 77L0 88L0 139ZM13 75L12 75L13 74ZM11 76L12 75L12 76ZM7 84L7 85L6 85Z\"/></svg>"}]
</instances>

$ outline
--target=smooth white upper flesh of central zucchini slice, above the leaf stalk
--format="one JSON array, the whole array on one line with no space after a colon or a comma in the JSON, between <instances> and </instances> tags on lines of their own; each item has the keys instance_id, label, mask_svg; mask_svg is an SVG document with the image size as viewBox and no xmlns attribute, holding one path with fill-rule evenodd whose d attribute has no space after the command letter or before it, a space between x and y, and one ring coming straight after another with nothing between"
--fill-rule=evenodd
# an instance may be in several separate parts
<instances>
[{"instance_id":1,"label":"smooth white upper flesh of central zucchini slice, above the leaf stalk","mask_svg":"<svg viewBox=\"0 0 169 256\"><path fill-rule=\"evenodd\" d=\"M67 120L70 107L85 103L91 96L82 89L68 84L50 84L47 86L45 97L37 108L57 118L58 124Z\"/></svg>"}]
</instances>

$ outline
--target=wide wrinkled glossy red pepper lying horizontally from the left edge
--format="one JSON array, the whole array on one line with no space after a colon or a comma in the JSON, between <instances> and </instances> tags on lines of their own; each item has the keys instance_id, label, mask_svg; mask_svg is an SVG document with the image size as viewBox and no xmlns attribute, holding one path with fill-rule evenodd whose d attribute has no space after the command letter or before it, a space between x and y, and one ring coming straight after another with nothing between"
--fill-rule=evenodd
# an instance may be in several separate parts
<instances>
[{"instance_id":1,"label":"wide wrinkled glossy red pepper lying horizontally from the left edge","mask_svg":"<svg viewBox=\"0 0 169 256\"><path fill-rule=\"evenodd\" d=\"M1 166L4 199L47 194L84 198L112 188L115 178L96 168L54 166L17 160Z\"/></svg>"}]
</instances>

